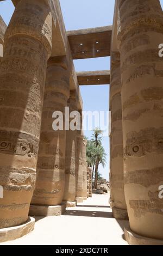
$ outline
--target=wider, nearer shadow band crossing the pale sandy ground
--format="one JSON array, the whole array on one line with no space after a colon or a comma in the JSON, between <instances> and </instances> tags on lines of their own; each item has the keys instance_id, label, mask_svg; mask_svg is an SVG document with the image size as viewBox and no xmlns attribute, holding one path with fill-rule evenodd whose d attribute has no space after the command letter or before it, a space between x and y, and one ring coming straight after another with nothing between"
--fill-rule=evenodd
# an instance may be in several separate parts
<instances>
[{"instance_id":1,"label":"wider, nearer shadow band crossing the pale sandy ground","mask_svg":"<svg viewBox=\"0 0 163 256\"><path fill-rule=\"evenodd\" d=\"M99 217L99 218L113 218L112 217L112 212L105 212L105 211L66 210L64 215L84 216L84 217Z\"/></svg>"}]
</instances>

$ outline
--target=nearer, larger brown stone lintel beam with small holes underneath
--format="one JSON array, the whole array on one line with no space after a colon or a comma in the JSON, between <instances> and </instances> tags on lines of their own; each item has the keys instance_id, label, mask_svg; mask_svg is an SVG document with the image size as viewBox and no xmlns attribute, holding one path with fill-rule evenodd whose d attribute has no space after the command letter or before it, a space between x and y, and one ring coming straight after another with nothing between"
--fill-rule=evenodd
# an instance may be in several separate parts
<instances>
[{"instance_id":1,"label":"nearer, larger brown stone lintel beam with small holes underneath","mask_svg":"<svg viewBox=\"0 0 163 256\"><path fill-rule=\"evenodd\" d=\"M73 59L110 56L112 26L68 31Z\"/></svg>"}]
</instances>

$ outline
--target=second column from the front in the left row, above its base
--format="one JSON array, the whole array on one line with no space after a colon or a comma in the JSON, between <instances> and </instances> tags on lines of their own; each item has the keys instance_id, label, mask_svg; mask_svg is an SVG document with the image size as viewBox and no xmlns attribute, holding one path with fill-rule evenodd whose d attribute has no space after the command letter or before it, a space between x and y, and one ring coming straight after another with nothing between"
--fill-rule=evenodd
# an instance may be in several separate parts
<instances>
[{"instance_id":1,"label":"second column from the front in the left row, above its base","mask_svg":"<svg viewBox=\"0 0 163 256\"><path fill-rule=\"evenodd\" d=\"M32 204L58 205L64 196L66 131L54 131L54 111L65 113L70 94L70 72L66 57L48 60L46 86L43 100L37 181ZM58 116L55 116L58 118ZM57 119L58 120L58 119ZM61 121L61 120L60 120Z\"/></svg>"}]
</instances>

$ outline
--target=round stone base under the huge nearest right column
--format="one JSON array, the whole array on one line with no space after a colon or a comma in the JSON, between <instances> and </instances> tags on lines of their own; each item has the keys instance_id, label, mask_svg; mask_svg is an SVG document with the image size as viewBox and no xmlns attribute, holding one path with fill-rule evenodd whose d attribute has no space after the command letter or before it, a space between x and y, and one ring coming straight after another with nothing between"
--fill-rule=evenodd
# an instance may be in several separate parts
<instances>
[{"instance_id":1,"label":"round stone base under the huge nearest right column","mask_svg":"<svg viewBox=\"0 0 163 256\"><path fill-rule=\"evenodd\" d=\"M137 235L129 226L124 228L124 236L129 245L163 245L163 240Z\"/></svg>"}]
</instances>

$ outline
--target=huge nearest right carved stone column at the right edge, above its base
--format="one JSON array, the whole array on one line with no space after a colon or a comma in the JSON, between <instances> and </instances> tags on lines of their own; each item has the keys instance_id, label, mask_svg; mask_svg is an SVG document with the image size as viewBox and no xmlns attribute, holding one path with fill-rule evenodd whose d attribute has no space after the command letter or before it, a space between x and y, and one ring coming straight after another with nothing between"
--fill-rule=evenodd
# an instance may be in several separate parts
<instances>
[{"instance_id":1,"label":"huge nearest right carved stone column at the right edge, above its base","mask_svg":"<svg viewBox=\"0 0 163 256\"><path fill-rule=\"evenodd\" d=\"M130 228L163 239L163 15L159 0L119 1L124 191Z\"/></svg>"}]
</instances>

